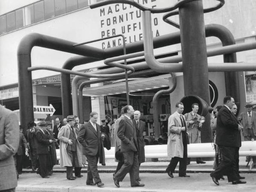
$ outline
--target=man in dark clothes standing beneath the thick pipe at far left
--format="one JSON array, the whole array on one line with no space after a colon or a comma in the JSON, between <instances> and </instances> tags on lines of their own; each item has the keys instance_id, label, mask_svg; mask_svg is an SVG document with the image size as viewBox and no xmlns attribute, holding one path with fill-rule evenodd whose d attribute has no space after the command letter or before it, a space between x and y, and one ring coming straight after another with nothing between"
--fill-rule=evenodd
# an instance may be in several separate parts
<instances>
[{"instance_id":1,"label":"man in dark clothes standing beneath the thick pipe at far left","mask_svg":"<svg viewBox=\"0 0 256 192\"><path fill-rule=\"evenodd\" d=\"M38 168L38 160L37 160L37 152L36 152L36 136L35 133L37 129L35 129L36 124L34 122L29 122L29 129L26 130L25 138L27 140L27 144L29 147L29 153L31 158L32 170L35 171Z\"/></svg>"}]
</instances>

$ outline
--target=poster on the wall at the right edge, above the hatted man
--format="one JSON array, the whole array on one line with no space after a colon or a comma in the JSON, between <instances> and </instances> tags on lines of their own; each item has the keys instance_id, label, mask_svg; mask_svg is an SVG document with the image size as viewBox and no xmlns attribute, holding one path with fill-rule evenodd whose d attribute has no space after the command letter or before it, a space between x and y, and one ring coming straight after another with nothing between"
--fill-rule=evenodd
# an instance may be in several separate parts
<instances>
[{"instance_id":1,"label":"poster on the wall at the right edge, above the hatted man","mask_svg":"<svg viewBox=\"0 0 256 192\"><path fill-rule=\"evenodd\" d=\"M244 72L246 102L256 104L256 72Z\"/></svg>"}]
</instances>

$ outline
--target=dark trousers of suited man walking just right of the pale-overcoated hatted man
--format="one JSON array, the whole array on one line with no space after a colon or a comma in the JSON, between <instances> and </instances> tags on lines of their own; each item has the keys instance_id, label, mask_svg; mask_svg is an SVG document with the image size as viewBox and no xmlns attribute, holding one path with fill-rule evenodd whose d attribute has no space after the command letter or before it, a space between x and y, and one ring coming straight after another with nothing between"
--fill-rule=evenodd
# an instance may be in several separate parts
<instances>
[{"instance_id":1,"label":"dark trousers of suited man walking just right of the pale-overcoated hatted man","mask_svg":"<svg viewBox=\"0 0 256 192\"><path fill-rule=\"evenodd\" d=\"M97 165L99 160L99 154L97 154L96 156L87 155L86 158L88 163L86 183L93 183L93 180L95 183L101 182Z\"/></svg>"}]
</instances>

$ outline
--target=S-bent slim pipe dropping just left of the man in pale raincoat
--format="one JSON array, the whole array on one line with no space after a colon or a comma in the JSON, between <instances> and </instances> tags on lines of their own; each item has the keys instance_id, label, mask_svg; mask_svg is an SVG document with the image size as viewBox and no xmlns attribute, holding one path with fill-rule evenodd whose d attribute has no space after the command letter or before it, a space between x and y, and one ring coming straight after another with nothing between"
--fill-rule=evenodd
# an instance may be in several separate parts
<instances>
[{"instance_id":1,"label":"S-bent slim pipe dropping just left of the man in pale raincoat","mask_svg":"<svg viewBox=\"0 0 256 192\"><path fill-rule=\"evenodd\" d=\"M154 136L155 138L159 138L160 135L160 123L159 123L159 111L158 111L158 99L161 95L163 94L170 94L172 93L177 86L177 77L175 73L171 73L172 75L172 86L169 86L169 89L164 89L164 90L160 90L158 91L152 100L153 103L153 110L154 110L154 114L153 114L153 122L154 122Z\"/></svg>"}]
</instances>

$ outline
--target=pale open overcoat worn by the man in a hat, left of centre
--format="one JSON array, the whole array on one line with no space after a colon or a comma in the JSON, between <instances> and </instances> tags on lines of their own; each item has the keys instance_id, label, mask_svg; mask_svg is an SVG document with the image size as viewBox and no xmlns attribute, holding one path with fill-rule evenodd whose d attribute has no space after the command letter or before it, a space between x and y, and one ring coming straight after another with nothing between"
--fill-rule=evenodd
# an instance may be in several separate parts
<instances>
[{"instance_id":1,"label":"pale open overcoat worn by the man in a hat, left of centre","mask_svg":"<svg viewBox=\"0 0 256 192\"><path fill-rule=\"evenodd\" d=\"M70 126L64 125L61 127L61 129L58 132L58 140L60 140L60 165L61 167L64 166L72 166L72 161L67 155L67 145L68 145L68 138L70 136ZM72 128L75 135L76 135L76 130ZM76 135L77 138L77 135ZM81 151L81 146L76 145L76 154L78 158L78 164L79 167L82 166L82 151Z\"/></svg>"}]
</instances>

